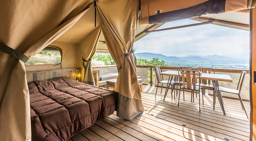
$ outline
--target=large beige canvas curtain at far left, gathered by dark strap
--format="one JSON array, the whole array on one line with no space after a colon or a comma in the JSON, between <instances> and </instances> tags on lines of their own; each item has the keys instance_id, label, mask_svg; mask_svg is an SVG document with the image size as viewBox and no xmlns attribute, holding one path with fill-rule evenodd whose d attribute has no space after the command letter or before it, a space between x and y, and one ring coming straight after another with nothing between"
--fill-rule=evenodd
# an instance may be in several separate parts
<instances>
[{"instance_id":1,"label":"large beige canvas curtain at far left, gathered by dark strap","mask_svg":"<svg viewBox=\"0 0 256 141\"><path fill-rule=\"evenodd\" d=\"M32 57L73 26L92 3L1 1L0 42ZM24 62L2 51L0 61L0 140L29 140L31 109Z\"/></svg>"}]
</instances>

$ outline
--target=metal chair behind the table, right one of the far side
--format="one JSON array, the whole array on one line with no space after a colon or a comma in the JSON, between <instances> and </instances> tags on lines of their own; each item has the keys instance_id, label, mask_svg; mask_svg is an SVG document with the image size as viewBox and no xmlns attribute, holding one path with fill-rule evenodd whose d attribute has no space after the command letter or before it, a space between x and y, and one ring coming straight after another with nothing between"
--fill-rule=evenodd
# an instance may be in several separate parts
<instances>
[{"instance_id":1,"label":"metal chair behind the table, right one of the far side","mask_svg":"<svg viewBox=\"0 0 256 141\"><path fill-rule=\"evenodd\" d=\"M196 68L196 70L198 70L199 72L203 72L203 73L211 73L211 72L215 73L214 68L200 68L199 67L199 68ZM213 90L213 93L215 93L214 87L213 87L213 85L211 85L211 80L208 80L208 84L207 84L207 79L199 80L199 82L200 82L201 87L203 87L203 89ZM199 83L196 83L196 85L199 85Z\"/></svg>"}]
</instances>

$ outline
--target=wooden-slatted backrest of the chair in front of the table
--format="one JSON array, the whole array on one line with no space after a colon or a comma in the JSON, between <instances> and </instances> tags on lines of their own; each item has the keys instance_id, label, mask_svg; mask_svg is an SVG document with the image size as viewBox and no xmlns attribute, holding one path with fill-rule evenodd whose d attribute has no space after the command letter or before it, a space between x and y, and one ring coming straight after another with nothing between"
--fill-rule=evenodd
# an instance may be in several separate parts
<instances>
[{"instance_id":1,"label":"wooden-slatted backrest of the chair in front of the table","mask_svg":"<svg viewBox=\"0 0 256 141\"><path fill-rule=\"evenodd\" d=\"M191 72L192 72L192 82L191 82ZM181 78L182 78L183 88L185 88L185 84L186 84L185 82L187 82L187 84L186 84L187 89L192 90L192 86L193 86L193 90L196 90L196 72L198 74L200 74L200 72L197 71L197 70L183 70L183 69L180 69L178 71L179 81L181 82ZM182 76L180 76L180 74ZM200 79L200 75L199 75L199 79ZM181 83L179 83L179 86L181 87ZM200 83L199 83L199 88L200 88Z\"/></svg>"}]
</instances>

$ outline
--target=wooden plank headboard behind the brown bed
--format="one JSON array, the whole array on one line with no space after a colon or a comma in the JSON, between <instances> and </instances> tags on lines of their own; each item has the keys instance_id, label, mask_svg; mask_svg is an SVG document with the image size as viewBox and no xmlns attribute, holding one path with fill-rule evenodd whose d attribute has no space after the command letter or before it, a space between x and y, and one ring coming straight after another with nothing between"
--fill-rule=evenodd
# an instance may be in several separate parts
<instances>
[{"instance_id":1,"label":"wooden plank headboard behind the brown bed","mask_svg":"<svg viewBox=\"0 0 256 141\"><path fill-rule=\"evenodd\" d=\"M75 71L77 69L81 74L81 68L26 71L26 79L27 82L31 82L36 80L49 80L60 76L66 76L75 80L75 77L77 76ZM81 78L79 78L79 81L81 82Z\"/></svg>"}]
</instances>

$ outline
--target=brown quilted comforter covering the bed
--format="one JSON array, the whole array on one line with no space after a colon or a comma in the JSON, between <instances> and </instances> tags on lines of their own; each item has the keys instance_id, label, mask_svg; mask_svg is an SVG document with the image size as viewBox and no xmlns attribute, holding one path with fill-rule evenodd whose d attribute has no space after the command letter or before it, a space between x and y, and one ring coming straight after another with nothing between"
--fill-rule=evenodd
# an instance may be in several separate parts
<instances>
[{"instance_id":1,"label":"brown quilted comforter covering the bed","mask_svg":"<svg viewBox=\"0 0 256 141\"><path fill-rule=\"evenodd\" d=\"M28 83L32 141L66 141L114 113L118 93L58 77Z\"/></svg>"}]
</instances>

